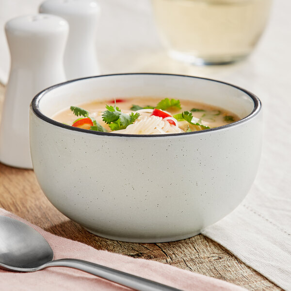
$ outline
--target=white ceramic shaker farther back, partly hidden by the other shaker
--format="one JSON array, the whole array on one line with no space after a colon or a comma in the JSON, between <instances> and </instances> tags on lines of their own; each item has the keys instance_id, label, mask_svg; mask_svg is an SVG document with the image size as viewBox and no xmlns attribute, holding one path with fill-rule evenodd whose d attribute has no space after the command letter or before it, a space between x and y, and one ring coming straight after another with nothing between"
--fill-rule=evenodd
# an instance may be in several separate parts
<instances>
[{"instance_id":1,"label":"white ceramic shaker farther back, partly hidden by the other shaker","mask_svg":"<svg viewBox=\"0 0 291 291\"><path fill-rule=\"evenodd\" d=\"M47 0L40 13L61 16L69 23L64 65L68 80L99 74L96 30L100 8L95 0Z\"/></svg>"}]
</instances>

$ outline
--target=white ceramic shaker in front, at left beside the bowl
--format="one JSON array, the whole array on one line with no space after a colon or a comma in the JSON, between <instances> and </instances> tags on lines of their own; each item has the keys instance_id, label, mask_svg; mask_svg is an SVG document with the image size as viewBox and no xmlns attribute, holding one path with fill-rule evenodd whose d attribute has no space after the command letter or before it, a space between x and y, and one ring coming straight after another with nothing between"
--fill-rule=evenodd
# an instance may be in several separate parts
<instances>
[{"instance_id":1,"label":"white ceramic shaker in front, at left beside the bowl","mask_svg":"<svg viewBox=\"0 0 291 291\"><path fill-rule=\"evenodd\" d=\"M68 23L59 16L20 16L5 25L11 67L0 124L0 162L32 168L29 106L41 90L65 81Z\"/></svg>"}]
</instances>

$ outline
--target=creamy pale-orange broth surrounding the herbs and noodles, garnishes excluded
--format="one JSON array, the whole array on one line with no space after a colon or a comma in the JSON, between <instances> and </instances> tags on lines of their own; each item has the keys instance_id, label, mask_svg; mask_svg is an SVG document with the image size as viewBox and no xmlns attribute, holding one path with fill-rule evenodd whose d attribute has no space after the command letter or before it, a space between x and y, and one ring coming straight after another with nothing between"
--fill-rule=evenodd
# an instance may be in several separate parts
<instances>
[{"instance_id":1,"label":"creamy pale-orange broth surrounding the herbs and noodles, garnishes excluded","mask_svg":"<svg viewBox=\"0 0 291 291\"><path fill-rule=\"evenodd\" d=\"M118 107L122 113L130 114L130 113L138 113L140 114L139 118L137 118L133 124L136 124L138 121L143 121L142 119L149 119L150 115L153 114L153 109L144 109L144 110L133 110L132 105L138 105L140 107L146 107L150 106L153 108L156 108L155 106L159 104L161 101L161 98L156 97L136 97L136 98L127 98L127 99L116 99L116 107ZM165 110L157 110L162 111L165 114L170 114L171 116L176 118L179 116L181 117L179 113L185 113L189 112L192 114L193 119L192 123L189 123L186 120L178 120L178 124L176 124L175 121L172 121L170 119L172 118L166 118L163 119L162 117L159 117L164 122L167 120L170 123L170 128L167 132L162 133L176 133L176 132L186 132L186 131L196 131L196 130L203 130L203 129L209 129L209 128L215 128L220 127L235 121L238 121L240 118L231 112L228 112L222 108L210 106L203 103L194 102L191 100L175 100L179 101L181 109L172 106ZM112 128L103 121L102 114L107 110L106 105L113 106L114 107L114 100L102 100L102 101L94 101L90 103L83 103L83 104L72 104L74 106L78 106L81 109L86 110L89 113L89 117L93 120L96 120L99 125L101 125L104 129L107 131L113 131ZM135 108L136 109L136 108ZM155 109L156 111L156 109ZM162 113L162 114L163 114ZM179 115L178 115L179 114ZM142 116L143 115L143 116ZM144 116L145 115L145 116ZM161 116L161 115L158 115ZM190 115L191 116L191 115ZM90 129L90 126L77 126L74 125L76 120L82 119L85 116L76 116L70 108L64 109L56 114L54 114L51 118L55 121L65 123L68 125L73 125L76 127L84 128L84 129ZM158 118L157 118L158 119ZM143 121L144 122L144 121ZM167 122L165 122L167 124ZM195 124L199 124L201 126L197 126ZM129 130L130 128L130 130ZM176 129L177 128L177 129ZM180 131L178 131L178 128ZM122 130L114 130L116 133L132 133L133 134L155 134L154 133L147 133L146 130L141 129L138 131L132 131L133 125L129 125L127 129ZM173 131L173 130L177 131ZM101 130L102 131L102 130Z\"/></svg>"}]
</instances>

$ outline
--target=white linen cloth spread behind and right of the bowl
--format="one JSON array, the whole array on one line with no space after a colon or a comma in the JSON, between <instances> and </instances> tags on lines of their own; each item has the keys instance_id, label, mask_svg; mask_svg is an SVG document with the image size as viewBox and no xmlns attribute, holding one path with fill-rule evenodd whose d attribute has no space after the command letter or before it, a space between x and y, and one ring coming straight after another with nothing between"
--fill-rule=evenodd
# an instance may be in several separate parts
<instances>
[{"instance_id":1,"label":"white linen cloth spread behind and right of the bowl","mask_svg":"<svg viewBox=\"0 0 291 291\"><path fill-rule=\"evenodd\" d=\"M39 0L0 0L0 25L37 11ZM209 77L256 94L263 103L264 140L256 181L242 205L204 234L285 290L291 290L291 1L274 0L269 24L245 61L195 67L169 59L148 0L101 0L97 54L101 73L166 72ZM9 54L0 31L0 80Z\"/></svg>"}]
</instances>

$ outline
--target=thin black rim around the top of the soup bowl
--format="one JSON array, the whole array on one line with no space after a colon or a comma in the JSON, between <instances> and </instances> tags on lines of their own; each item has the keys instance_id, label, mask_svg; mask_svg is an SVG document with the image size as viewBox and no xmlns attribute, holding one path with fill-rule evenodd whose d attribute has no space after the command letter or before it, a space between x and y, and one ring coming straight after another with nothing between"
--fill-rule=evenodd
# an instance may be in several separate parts
<instances>
[{"instance_id":1,"label":"thin black rim around the top of the soup bowl","mask_svg":"<svg viewBox=\"0 0 291 291\"><path fill-rule=\"evenodd\" d=\"M247 115L246 117L235 121L233 123L230 124L226 124L220 127L216 127L213 129L204 129L204 130L199 130L199 131L191 131L191 132L180 132L180 133L167 133L167 134L125 134L125 133L114 133L114 132L102 132L102 131L95 131L95 130L88 130L88 129L80 129L77 127L72 127L63 123L60 123L58 121L55 121L51 118L49 118L48 116L44 115L43 113L40 112L40 110L38 109L38 104L41 100L41 98L46 95L49 91L60 87L62 85L65 84L69 84L71 82L76 82L76 81L81 81L81 80L87 80L87 79L95 79L95 78L102 78L102 77L110 77L110 76L125 76L125 75L154 75L154 76L176 76L176 77L185 77L185 78L194 78L194 79L202 79L202 80L208 80L208 81L212 81L212 82L218 82L221 84L225 84L228 86L231 86L233 88L236 88L238 90L241 90L243 93L245 93L246 95L248 95L249 97L251 97L251 99L254 102L254 109L253 111ZM209 131L214 131L214 130L220 130L220 129L226 129L229 127L233 127L236 126L237 124L240 124L242 122L245 122L247 120L249 120L250 118L254 117L255 115L257 115L261 109L261 101L259 100L259 98L257 96L255 96L254 94L252 94L251 92L242 89L241 87L238 87L236 85L230 84L230 83L226 83L223 81L218 81L218 80L213 80L213 79L208 79L208 78L201 78L201 77L194 77L194 76L188 76L188 75L178 75L178 74L164 74L164 73L123 73L123 74L109 74L109 75L99 75L99 76L92 76L92 77L86 77L86 78L79 78L79 79L74 79L74 80L69 80L69 81L65 81L63 83L59 83L53 86L50 86L47 89L44 89L43 91L39 92L33 99L32 99L32 103L31 103L31 108L32 108L32 112L38 116L40 119L64 128L64 129L69 129L69 130L74 130L74 131L79 131L79 132L85 132L85 133L89 133L89 134L97 134L97 135L107 135L107 136L120 136L120 137L167 137L167 136L177 136L177 135L189 135L189 134L202 134L202 133L206 133Z\"/></svg>"}]
</instances>

